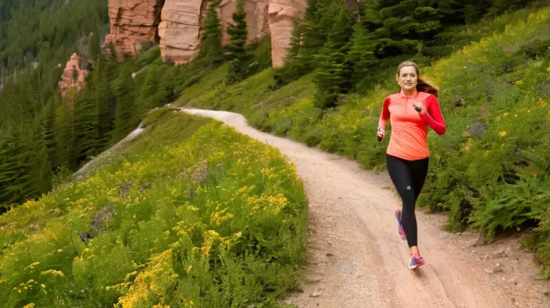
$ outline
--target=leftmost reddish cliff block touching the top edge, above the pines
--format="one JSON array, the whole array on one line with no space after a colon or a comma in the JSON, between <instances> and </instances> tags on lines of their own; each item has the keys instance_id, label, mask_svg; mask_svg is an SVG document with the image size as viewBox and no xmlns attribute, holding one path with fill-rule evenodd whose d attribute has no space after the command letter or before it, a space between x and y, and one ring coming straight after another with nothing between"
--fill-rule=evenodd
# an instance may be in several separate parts
<instances>
[{"instance_id":1,"label":"leftmost reddish cliff block touching the top edge, above the pines","mask_svg":"<svg viewBox=\"0 0 550 308\"><path fill-rule=\"evenodd\" d=\"M111 33L104 47L112 42L119 60L135 56L142 44L155 41L162 5L164 0L109 0Z\"/></svg>"}]
</instances>

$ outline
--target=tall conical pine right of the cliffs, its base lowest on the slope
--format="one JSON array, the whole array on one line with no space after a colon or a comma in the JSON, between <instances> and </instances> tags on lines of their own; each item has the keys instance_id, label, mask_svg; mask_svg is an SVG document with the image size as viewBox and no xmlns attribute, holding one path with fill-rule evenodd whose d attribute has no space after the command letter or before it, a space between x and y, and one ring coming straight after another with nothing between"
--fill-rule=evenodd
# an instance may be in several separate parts
<instances>
[{"instance_id":1,"label":"tall conical pine right of the cliffs, its base lowest on the slope","mask_svg":"<svg viewBox=\"0 0 550 308\"><path fill-rule=\"evenodd\" d=\"M314 80L317 86L315 98L317 107L334 107L338 96L351 89L351 63L347 61L351 35L349 14L342 8L329 33L329 41L319 56L320 64Z\"/></svg>"}]
</instances>

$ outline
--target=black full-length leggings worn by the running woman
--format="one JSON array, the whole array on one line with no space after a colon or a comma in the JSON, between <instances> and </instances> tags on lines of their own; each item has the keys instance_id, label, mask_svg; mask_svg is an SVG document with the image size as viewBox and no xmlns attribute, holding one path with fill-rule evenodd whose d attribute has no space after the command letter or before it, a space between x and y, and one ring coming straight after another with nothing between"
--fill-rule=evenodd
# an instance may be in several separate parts
<instances>
[{"instance_id":1,"label":"black full-length leggings worn by the running woman","mask_svg":"<svg viewBox=\"0 0 550 308\"><path fill-rule=\"evenodd\" d=\"M406 160L387 155L388 173L403 201L401 224L407 236L408 247L417 246L417 217L415 206L428 174L429 157L419 160Z\"/></svg>"}]
</instances>

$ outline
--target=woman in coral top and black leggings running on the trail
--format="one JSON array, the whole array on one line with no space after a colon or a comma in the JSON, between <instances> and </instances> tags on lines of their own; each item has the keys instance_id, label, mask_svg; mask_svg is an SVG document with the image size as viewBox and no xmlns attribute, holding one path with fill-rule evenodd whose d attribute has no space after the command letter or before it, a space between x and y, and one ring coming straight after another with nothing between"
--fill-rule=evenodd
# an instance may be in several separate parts
<instances>
[{"instance_id":1,"label":"woman in coral top and black leggings running on the trail","mask_svg":"<svg viewBox=\"0 0 550 308\"><path fill-rule=\"evenodd\" d=\"M395 217L399 235L407 240L410 248L408 268L413 270L424 264L418 250L415 206L428 174L427 126L438 135L445 134L446 129L437 101L439 90L420 78L416 63L401 63L395 79L401 92L384 100L377 140L382 142L386 122L391 119L386 163L393 185L403 201L402 211L396 210Z\"/></svg>"}]
</instances>

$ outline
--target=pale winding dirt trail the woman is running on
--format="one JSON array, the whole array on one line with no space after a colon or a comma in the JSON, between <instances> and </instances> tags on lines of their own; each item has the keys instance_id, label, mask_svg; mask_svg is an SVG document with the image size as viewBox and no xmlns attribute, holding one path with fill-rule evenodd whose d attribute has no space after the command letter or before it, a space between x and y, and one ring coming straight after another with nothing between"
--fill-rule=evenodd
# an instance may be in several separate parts
<instances>
[{"instance_id":1,"label":"pale winding dirt trail the woman is running on","mask_svg":"<svg viewBox=\"0 0 550 308\"><path fill-rule=\"evenodd\" d=\"M182 109L225 122L281 150L309 199L310 234L303 292L285 303L309 307L550 307L547 281L517 239L476 245L476 234L441 230L444 217L417 211L426 265L406 268L408 248L393 212L400 201L386 174L298 142L262 133L225 111ZM496 263L500 266L495 267Z\"/></svg>"}]
</instances>

